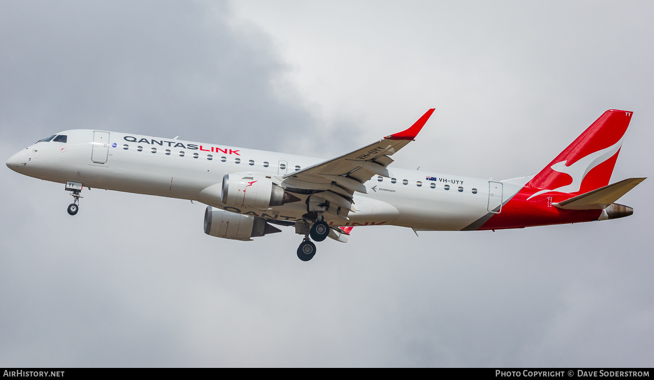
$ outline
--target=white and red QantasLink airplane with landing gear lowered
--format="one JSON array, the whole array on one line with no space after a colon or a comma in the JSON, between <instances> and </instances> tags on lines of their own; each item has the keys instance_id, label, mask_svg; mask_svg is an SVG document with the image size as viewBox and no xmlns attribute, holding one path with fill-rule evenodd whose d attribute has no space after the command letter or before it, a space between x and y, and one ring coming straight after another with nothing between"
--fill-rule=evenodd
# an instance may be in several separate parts
<instances>
[{"instance_id":1,"label":"white and red QantasLink airplane with landing gear lowered","mask_svg":"<svg viewBox=\"0 0 654 380\"><path fill-rule=\"evenodd\" d=\"M536 175L504 181L389 168L430 118L330 160L105 130L67 130L21 150L7 166L65 184L79 210L82 188L205 203L204 232L251 241L293 226L313 241L347 242L354 226L481 231L607 220L632 215L615 203L645 177L609 184L632 117L604 112ZM392 172L390 171L392 169ZM313 241L312 241L313 240Z\"/></svg>"}]
</instances>

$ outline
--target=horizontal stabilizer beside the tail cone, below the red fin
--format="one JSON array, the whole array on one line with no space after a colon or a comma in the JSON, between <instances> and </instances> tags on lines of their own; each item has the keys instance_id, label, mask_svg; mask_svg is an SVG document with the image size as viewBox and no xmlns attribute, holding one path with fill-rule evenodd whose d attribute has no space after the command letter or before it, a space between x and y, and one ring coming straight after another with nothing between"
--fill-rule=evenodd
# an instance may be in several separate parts
<instances>
[{"instance_id":1,"label":"horizontal stabilizer beside the tail cone, below the red fin","mask_svg":"<svg viewBox=\"0 0 654 380\"><path fill-rule=\"evenodd\" d=\"M603 210L645 179L646 177L623 179L553 205L566 210Z\"/></svg>"}]
</instances>

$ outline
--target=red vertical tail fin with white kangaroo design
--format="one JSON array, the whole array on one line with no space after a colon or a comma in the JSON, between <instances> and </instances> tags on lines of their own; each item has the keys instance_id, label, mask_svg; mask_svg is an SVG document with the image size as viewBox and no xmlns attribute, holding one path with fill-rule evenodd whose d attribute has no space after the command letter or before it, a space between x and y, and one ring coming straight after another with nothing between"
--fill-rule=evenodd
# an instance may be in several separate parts
<instances>
[{"instance_id":1,"label":"red vertical tail fin with white kangaroo design","mask_svg":"<svg viewBox=\"0 0 654 380\"><path fill-rule=\"evenodd\" d=\"M615 109L604 112L529 181L527 186L543 189L529 198L550 191L584 194L606 186L632 113Z\"/></svg>"}]
</instances>

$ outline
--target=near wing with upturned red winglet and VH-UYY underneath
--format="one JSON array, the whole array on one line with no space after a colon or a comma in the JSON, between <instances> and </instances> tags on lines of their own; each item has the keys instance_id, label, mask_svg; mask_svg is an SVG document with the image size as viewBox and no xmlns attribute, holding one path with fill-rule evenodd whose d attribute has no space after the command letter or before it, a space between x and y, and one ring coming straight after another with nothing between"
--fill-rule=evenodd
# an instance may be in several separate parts
<instances>
[{"instance_id":1,"label":"near wing with upturned red winglet and VH-UYY underneath","mask_svg":"<svg viewBox=\"0 0 654 380\"><path fill-rule=\"evenodd\" d=\"M313 190L315 196L312 198L316 199L317 204L328 205L327 211L347 219L347 211L356 212L352 200L354 192L367 194L364 182L373 175L392 177L387 169L393 162L390 156L415 139L432 113L434 109L425 112L407 130L320 164L288 173L283 177L284 185L290 191Z\"/></svg>"}]
</instances>

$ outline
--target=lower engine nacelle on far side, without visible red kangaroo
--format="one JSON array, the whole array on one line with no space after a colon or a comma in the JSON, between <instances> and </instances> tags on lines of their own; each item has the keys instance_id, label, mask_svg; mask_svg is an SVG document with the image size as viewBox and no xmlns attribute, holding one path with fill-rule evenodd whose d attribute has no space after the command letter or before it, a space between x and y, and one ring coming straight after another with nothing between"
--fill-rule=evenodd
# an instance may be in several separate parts
<instances>
[{"instance_id":1,"label":"lower engine nacelle on far side, without visible red kangaroo","mask_svg":"<svg viewBox=\"0 0 654 380\"><path fill-rule=\"evenodd\" d=\"M205 211L205 233L224 239L250 241L250 237L259 237L267 233L281 232L268 224L263 218L250 215L230 213L207 206Z\"/></svg>"}]
</instances>

